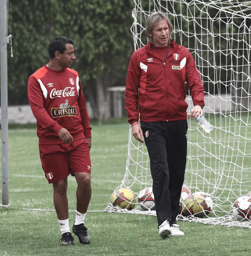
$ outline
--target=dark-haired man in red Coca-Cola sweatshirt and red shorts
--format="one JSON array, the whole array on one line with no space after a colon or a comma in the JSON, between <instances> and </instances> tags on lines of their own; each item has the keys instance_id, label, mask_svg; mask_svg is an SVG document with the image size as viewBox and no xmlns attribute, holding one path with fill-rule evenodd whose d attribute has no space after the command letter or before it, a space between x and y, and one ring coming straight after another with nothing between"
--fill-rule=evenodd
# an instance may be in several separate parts
<instances>
[{"instance_id":1,"label":"dark-haired man in red Coca-Cola sweatshirt and red shorts","mask_svg":"<svg viewBox=\"0 0 251 256\"><path fill-rule=\"evenodd\" d=\"M48 50L50 62L28 81L42 168L48 182L53 184L61 245L73 245L66 194L69 174L75 176L78 183L73 233L80 243L89 244L84 219L91 199L91 127L78 73L70 68L76 59L73 40L55 37Z\"/></svg>"}]
</instances>

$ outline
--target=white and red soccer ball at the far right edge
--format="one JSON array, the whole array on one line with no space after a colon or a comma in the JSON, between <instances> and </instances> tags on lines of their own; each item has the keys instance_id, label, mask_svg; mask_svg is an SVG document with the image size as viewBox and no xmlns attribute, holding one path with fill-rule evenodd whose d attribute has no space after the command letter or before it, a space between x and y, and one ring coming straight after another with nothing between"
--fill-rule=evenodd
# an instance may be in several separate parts
<instances>
[{"instance_id":1,"label":"white and red soccer ball at the far right edge","mask_svg":"<svg viewBox=\"0 0 251 256\"><path fill-rule=\"evenodd\" d=\"M251 220L251 197L243 195L238 197L233 204L233 214L238 220Z\"/></svg>"}]
</instances>

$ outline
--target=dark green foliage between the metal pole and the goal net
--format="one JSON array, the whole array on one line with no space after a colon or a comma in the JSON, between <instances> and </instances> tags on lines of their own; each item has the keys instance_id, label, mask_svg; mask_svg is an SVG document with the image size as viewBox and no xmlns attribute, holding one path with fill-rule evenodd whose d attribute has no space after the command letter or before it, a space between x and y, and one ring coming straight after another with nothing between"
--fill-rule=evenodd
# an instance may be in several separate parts
<instances>
[{"instance_id":1,"label":"dark green foliage between the metal pole and the goal net","mask_svg":"<svg viewBox=\"0 0 251 256\"><path fill-rule=\"evenodd\" d=\"M120 0L10 0L8 33L13 35L14 57L8 59L9 105L28 103L29 76L49 62L51 39L64 35L75 41L72 68L80 75L95 117L105 118L105 88L125 85L133 52L133 7L133 1Z\"/></svg>"}]
</instances>

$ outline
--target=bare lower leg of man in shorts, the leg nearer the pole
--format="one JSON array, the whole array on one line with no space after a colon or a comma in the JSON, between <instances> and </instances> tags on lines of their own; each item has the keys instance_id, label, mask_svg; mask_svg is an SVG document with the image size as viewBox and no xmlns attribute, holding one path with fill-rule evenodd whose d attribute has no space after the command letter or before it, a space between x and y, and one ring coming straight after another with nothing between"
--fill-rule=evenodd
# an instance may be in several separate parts
<instances>
[{"instance_id":1,"label":"bare lower leg of man in shorts, the leg nearer the pole","mask_svg":"<svg viewBox=\"0 0 251 256\"><path fill-rule=\"evenodd\" d=\"M67 177L53 183L53 202L58 219L68 219Z\"/></svg>"}]
</instances>

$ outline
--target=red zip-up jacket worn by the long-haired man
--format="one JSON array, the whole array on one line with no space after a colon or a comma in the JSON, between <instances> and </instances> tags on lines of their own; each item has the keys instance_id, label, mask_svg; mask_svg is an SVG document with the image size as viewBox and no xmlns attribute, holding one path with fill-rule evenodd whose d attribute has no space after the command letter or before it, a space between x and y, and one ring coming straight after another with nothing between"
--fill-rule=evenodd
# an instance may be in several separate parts
<instances>
[{"instance_id":1,"label":"red zip-up jacket worn by the long-haired man","mask_svg":"<svg viewBox=\"0 0 251 256\"><path fill-rule=\"evenodd\" d=\"M186 120L185 81L189 85L193 104L204 107L204 87L187 48L171 41L165 64L150 42L136 50L126 78L129 123L139 120L139 112L143 122Z\"/></svg>"}]
</instances>

